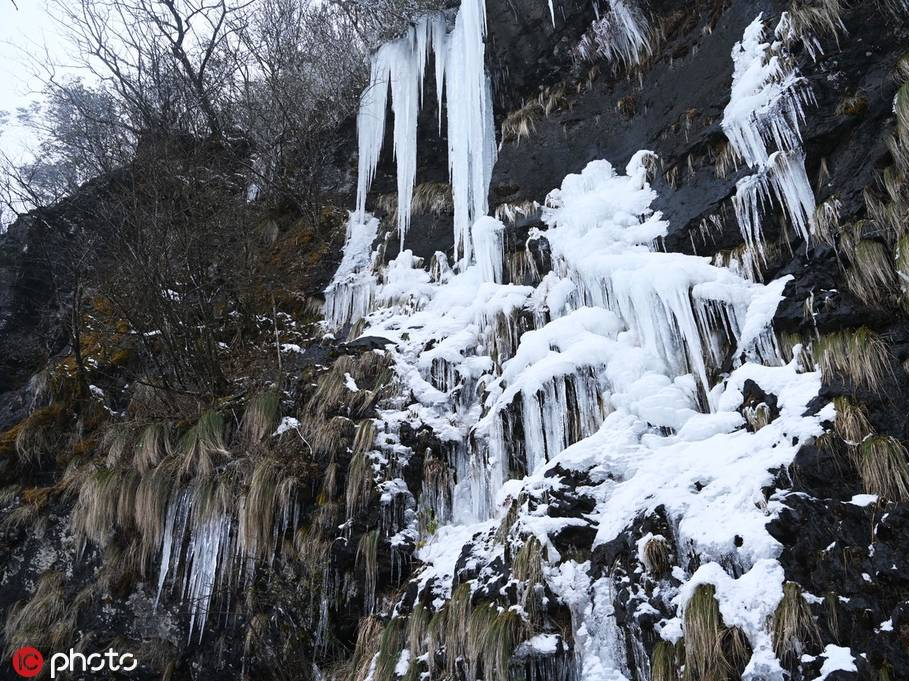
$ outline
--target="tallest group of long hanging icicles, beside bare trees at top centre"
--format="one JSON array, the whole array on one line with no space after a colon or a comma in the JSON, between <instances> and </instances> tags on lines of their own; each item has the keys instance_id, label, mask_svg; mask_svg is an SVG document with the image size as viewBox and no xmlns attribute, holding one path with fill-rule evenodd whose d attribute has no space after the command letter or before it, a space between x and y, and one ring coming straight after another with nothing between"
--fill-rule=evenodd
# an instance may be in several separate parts
<instances>
[{"instance_id":1,"label":"tallest group of long hanging icicles, beside bare trees at top centre","mask_svg":"<svg viewBox=\"0 0 909 681\"><path fill-rule=\"evenodd\" d=\"M485 67L486 8L465 0L451 33L445 17L420 18L400 39L373 56L369 85L357 116L359 177L357 214L364 220L366 194L375 176L385 135L391 89L394 153L397 160L398 229L401 248L410 224L417 169L417 118L429 50L435 53L436 92L441 123L443 92L448 120L448 166L454 201L455 252L470 259L470 225L485 215L496 158L492 96Z\"/></svg>"}]
</instances>

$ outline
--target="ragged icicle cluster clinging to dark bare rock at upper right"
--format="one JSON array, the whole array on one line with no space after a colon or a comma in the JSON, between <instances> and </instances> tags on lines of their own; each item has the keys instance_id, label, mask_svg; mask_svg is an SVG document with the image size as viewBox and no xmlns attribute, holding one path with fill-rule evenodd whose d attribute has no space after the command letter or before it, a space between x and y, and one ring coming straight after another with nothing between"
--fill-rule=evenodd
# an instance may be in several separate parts
<instances>
[{"instance_id":1,"label":"ragged icicle cluster clinging to dark bare rock at upper right","mask_svg":"<svg viewBox=\"0 0 909 681\"><path fill-rule=\"evenodd\" d=\"M811 91L785 48L787 15L777 26L775 42L765 42L765 31L758 15L735 44L732 96L723 113L729 143L755 170L738 182L733 204L745 243L758 261L764 258L762 216L774 199L806 241L814 229L815 208L799 132Z\"/></svg>"}]
</instances>

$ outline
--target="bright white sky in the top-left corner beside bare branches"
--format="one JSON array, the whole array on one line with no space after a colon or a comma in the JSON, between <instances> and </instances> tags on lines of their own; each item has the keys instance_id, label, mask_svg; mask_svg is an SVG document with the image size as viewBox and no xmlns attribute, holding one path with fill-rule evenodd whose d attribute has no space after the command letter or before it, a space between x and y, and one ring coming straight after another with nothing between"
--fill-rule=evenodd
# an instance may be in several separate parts
<instances>
[{"instance_id":1,"label":"bright white sky in the top-left corner beside bare branches","mask_svg":"<svg viewBox=\"0 0 909 681\"><path fill-rule=\"evenodd\" d=\"M29 131L15 125L16 109L35 101L41 87L30 62L44 61L47 53L59 64L65 48L59 26L47 13L46 0L16 0L16 5L18 10L10 0L0 0L0 111L11 118L0 135L0 149L22 158L34 140Z\"/></svg>"}]
</instances>

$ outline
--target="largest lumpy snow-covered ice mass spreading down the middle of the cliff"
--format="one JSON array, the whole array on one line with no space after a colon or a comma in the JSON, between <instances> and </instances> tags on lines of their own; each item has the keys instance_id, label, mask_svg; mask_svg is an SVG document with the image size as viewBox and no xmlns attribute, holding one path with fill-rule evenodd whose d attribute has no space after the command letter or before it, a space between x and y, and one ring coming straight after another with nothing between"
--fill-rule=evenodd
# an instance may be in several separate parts
<instances>
[{"instance_id":1,"label":"largest lumpy snow-covered ice mass spreading down the middle of the cliff","mask_svg":"<svg viewBox=\"0 0 909 681\"><path fill-rule=\"evenodd\" d=\"M442 523L418 552L425 568L415 579L441 605L464 546L473 544L478 565L494 561L494 529L520 500L512 536L545 547L550 588L574 616L581 678L624 679L609 578L563 561L551 536L592 523L604 543L663 506L678 545L702 561L683 580L680 612L686 589L715 584L724 616L754 648L752 677L774 678L780 667L761 614L782 594L779 546L765 529L780 502L762 488L830 414L803 415L819 375L801 373L797 359L782 363L768 330L786 279L764 286L706 258L654 249L668 225L650 207L648 155L635 155L624 174L592 162L550 193L547 229L531 238L548 242L553 271L535 287L504 280L491 218L474 225L470 265L434 278L405 251L377 268L366 333L389 340L401 386L380 430L426 424L449 453L432 484L395 488ZM737 368L717 381L729 356ZM781 407L757 432L738 410L749 379ZM544 500L563 484L555 470L593 481L589 520L548 515ZM721 567L729 565L738 579ZM681 619L661 627L672 639Z\"/></svg>"}]
</instances>

